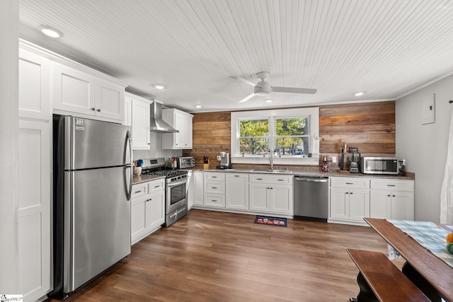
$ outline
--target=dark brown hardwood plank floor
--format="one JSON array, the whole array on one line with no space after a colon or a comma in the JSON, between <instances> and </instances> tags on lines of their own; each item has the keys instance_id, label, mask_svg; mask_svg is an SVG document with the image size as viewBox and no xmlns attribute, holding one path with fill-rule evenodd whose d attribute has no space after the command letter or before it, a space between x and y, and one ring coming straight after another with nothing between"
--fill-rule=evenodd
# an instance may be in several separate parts
<instances>
[{"instance_id":1,"label":"dark brown hardwood plank floor","mask_svg":"<svg viewBox=\"0 0 453 302\"><path fill-rule=\"evenodd\" d=\"M368 227L254 218L190 210L65 301L348 301L359 288L346 249L386 253Z\"/></svg>"}]
</instances>

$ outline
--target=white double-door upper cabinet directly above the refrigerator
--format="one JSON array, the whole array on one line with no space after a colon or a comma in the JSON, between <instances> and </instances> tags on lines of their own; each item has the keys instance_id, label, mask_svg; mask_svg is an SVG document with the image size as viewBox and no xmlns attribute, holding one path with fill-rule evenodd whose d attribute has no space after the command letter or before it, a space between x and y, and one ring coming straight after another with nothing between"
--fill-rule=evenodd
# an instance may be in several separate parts
<instances>
[{"instance_id":1,"label":"white double-door upper cabinet directly above the refrigerator","mask_svg":"<svg viewBox=\"0 0 453 302\"><path fill-rule=\"evenodd\" d=\"M122 122L125 86L57 62L52 79L54 109Z\"/></svg>"}]
</instances>

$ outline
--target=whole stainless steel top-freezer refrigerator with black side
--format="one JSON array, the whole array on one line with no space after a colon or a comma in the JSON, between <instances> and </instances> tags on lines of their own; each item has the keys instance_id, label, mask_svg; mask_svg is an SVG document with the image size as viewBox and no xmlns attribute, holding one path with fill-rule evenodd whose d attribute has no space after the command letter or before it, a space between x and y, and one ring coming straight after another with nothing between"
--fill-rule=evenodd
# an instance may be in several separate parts
<instances>
[{"instance_id":1,"label":"whole stainless steel top-freezer refrigerator with black side","mask_svg":"<svg viewBox=\"0 0 453 302\"><path fill-rule=\"evenodd\" d=\"M54 290L64 298L130 254L130 128L54 115Z\"/></svg>"}]
</instances>

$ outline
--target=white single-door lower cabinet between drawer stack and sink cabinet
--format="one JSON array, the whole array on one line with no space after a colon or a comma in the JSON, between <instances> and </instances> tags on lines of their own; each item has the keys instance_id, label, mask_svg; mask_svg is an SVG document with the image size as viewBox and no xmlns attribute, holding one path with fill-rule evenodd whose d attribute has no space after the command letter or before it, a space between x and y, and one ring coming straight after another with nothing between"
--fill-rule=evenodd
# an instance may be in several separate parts
<instances>
[{"instance_id":1,"label":"white single-door lower cabinet between drawer stack and sink cabinet","mask_svg":"<svg viewBox=\"0 0 453 302\"><path fill-rule=\"evenodd\" d=\"M248 210L248 174L227 173L226 184L226 209Z\"/></svg>"}]
</instances>

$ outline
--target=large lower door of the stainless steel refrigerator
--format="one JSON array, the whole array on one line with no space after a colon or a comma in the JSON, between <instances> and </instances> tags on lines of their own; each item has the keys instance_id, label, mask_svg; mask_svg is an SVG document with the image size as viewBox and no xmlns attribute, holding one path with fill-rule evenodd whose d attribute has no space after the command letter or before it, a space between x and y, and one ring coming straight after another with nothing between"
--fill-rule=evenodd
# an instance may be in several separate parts
<instances>
[{"instance_id":1,"label":"large lower door of the stainless steel refrigerator","mask_svg":"<svg viewBox=\"0 0 453 302\"><path fill-rule=\"evenodd\" d=\"M74 291L130 254L129 169L65 173L70 190L64 228L70 236L64 249L64 292Z\"/></svg>"}]
</instances>

